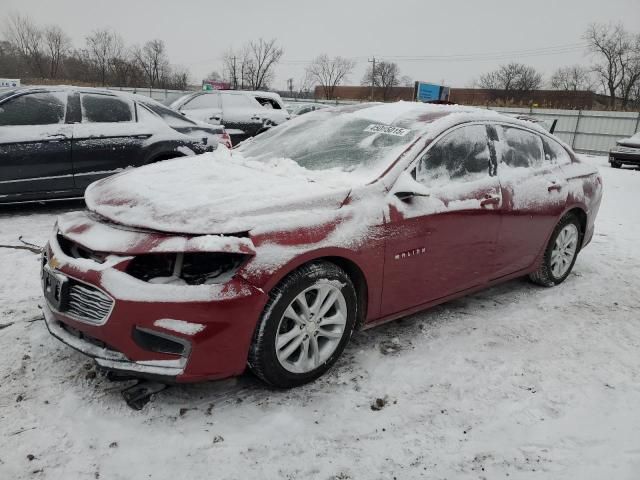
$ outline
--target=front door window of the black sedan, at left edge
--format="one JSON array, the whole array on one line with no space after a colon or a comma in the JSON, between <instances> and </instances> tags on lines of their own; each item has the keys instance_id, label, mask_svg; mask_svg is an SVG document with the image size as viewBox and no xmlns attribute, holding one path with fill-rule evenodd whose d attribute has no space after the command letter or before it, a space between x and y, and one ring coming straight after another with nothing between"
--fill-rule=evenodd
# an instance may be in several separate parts
<instances>
[{"instance_id":1,"label":"front door window of the black sedan, at left edge","mask_svg":"<svg viewBox=\"0 0 640 480\"><path fill-rule=\"evenodd\" d=\"M66 92L21 95L0 105L0 125L54 125L64 123Z\"/></svg>"}]
</instances>

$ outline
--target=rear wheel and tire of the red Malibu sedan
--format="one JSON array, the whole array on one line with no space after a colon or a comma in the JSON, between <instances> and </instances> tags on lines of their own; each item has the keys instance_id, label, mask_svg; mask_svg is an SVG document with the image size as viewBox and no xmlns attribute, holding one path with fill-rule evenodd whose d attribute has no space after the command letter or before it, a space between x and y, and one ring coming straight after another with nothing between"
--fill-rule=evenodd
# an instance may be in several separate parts
<instances>
[{"instance_id":1,"label":"rear wheel and tire of the red Malibu sedan","mask_svg":"<svg viewBox=\"0 0 640 480\"><path fill-rule=\"evenodd\" d=\"M567 213L553 230L542 263L538 270L529 275L529 279L544 287L553 287L564 282L578 258L582 235L580 221L576 215Z\"/></svg>"}]
</instances>

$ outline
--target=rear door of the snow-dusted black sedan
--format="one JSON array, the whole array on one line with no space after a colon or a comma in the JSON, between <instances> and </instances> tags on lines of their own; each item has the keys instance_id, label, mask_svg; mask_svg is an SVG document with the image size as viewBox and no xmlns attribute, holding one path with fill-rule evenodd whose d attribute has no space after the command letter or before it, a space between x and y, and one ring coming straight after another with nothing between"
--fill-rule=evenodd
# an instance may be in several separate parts
<instances>
[{"instance_id":1,"label":"rear door of the snow-dusted black sedan","mask_svg":"<svg viewBox=\"0 0 640 480\"><path fill-rule=\"evenodd\" d=\"M151 128L137 122L128 98L107 93L79 93L81 119L74 124L72 160L77 188L128 166L140 165L143 145Z\"/></svg>"}]
</instances>

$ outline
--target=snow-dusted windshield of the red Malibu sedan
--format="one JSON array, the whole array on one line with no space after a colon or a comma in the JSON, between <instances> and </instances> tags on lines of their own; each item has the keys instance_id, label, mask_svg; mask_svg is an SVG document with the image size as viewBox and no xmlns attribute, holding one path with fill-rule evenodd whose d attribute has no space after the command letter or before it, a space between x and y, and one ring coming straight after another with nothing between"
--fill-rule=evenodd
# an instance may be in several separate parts
<instances>
[{"instance_id":1,"label":"snow-dusted windshield of the red Malibu sedan","mask_svg":"<svg viewBox=\"0 0 640 480\"><path fill-rule=\"evenodd\" d=\"M376 108L376 107L374 107ZM238 147L262 162L290 159L308 170L358 172L376 178L418 136L415 118L384 123L371 108L324 110L296 117Z\"/></svg>"}]
</instances>

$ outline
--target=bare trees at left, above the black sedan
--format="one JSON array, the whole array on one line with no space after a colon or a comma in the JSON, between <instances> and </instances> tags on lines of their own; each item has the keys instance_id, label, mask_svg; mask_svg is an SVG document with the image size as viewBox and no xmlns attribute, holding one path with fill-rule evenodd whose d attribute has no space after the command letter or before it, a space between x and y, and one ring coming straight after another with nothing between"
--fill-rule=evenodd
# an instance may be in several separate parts
<instances>
[{"instance_id":1,"label":"bare trees at left, above the black sedan","mask_svg":"<svg viewBox=\"0 0 640 480\"><path fill-rule=\"evenodd\" d=\"M72 81L102 86L183 90L187 70L172 65L163 40L127 46L111 29L92 31L76 48L58 25L38 25L9 14L0 40L1 75L42 81Z\"/></svg>"}]
</instances>

